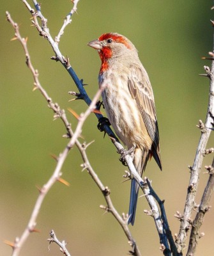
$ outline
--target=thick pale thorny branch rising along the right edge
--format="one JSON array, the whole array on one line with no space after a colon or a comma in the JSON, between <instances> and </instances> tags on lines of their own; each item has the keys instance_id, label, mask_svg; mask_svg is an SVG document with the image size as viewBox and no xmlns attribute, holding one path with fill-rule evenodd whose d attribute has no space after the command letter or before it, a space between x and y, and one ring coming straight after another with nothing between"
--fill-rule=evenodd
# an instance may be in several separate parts
<instances>
[{"instance_id":1,"label":"thick pale thorny branch rising along the right edge","mask_svg":"<svg viewBox=\"0 0 214 256\"><path fill-rule=\"evenodd\" d=\"M212 21L214 26L214 22ZM213 41L213 52L214 52L214 41ZM201 172L201 166L203 163L203 157L206 156L209 152L213 150L206 150L206 145L210 138L210 133L213 130L213 116L214 116L214 61L213 61L213 52L209 52L212 58L207 58L208 60L212 60L211 70L209 67L204 66L204 70L206 74L204 76L210 79L210 93L209 93L209 102L208 102L208 111L206 115L206 122L199 121L199 129L201 130L201 138L199 140L199 144L197 146L197 151L195 154L195 160L193 166L189 166L190 168L190 182L188 184L187 190L187 198L185 201L185 209L183 215L180 213L177 214L177 218L181 221L180 232L176 237L176 244L178 248L179 255L183 255L182 252L186 247L186 240L188 231L193 227L191 223L192 211L195 207L195 196L197 192L197 188L199 185L199 175ZM192 234L190 240L192 240ZM190 254L188 254L190 255ZM192 254L193 255L193 254Z\"/></svg>"}]
</instances>

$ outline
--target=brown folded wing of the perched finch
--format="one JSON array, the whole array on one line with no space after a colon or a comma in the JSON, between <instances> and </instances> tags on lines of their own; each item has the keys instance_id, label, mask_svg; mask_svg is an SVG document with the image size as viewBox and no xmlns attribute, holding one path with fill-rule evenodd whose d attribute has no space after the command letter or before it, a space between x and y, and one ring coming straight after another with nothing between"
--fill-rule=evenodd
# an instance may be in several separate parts
<instances>
[{"instance_id":1,"label":"brown folded wing of the perched finch","mask_svg":"<svg viewBox=\"0 0 214 256\"><path fill-rule=\"evenodd\" d=\"M148 134L153 141L151 148L153 157L160 169L162 169L160 161L158 122L151 83L149 81L148 74L143 67L132 66L130 67L130 70L130 76L128 77L128 90L130 91L133 99L136 100L137 107L141 112Z\"/></svg>"}]
</instances>

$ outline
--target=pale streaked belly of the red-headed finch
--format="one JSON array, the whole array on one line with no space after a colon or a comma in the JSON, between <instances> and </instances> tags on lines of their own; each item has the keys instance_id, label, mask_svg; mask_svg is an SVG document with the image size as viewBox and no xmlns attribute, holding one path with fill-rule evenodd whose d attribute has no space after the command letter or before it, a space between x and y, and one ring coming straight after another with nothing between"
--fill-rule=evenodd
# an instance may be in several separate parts
<instances>
[{"instance_id":1,"label":"pale streaked belly of the red-headed finch","mask_svg":"<svg viewBox=\"0 0 214 256\"><path fill-rule=\"evenodd\" d=\"M119 139L128 148L150 148L151 138L130 93L125 90L118 92L116 88L106 88L102 93L102 99L109 121Z\"/></svg>"}]
</instances>

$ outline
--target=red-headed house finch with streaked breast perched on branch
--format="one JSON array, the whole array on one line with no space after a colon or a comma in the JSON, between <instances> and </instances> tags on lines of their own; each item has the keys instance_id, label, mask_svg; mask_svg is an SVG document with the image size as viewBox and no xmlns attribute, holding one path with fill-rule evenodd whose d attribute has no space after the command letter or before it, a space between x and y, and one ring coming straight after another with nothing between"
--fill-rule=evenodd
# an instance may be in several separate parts
<instances>
[{"instance_id":1,"label":"red-headed house finch with streaked breast perched on branch","mask_svg":"<svg viewBox=\"0 0 214 256\"><path fill-rule=\"evenodd\" d=\"M102 61L99 86L103 104L117 136L134 150L134 166L142 176L153 156L160 170L158 123L153 90L148 74L139 60L137 49L123 35L106 33L88 43L98 50ZM134 225L139 185L132 179L128 223Z\"/></svg>"}]
</instances>

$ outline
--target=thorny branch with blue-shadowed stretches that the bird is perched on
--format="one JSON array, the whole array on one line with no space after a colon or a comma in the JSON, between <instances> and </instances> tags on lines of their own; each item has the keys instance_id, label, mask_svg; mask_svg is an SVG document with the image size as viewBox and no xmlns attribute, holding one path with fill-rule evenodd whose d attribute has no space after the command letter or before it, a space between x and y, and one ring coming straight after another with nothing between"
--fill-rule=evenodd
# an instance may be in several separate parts
<instances>
[{"instance_id":1,"label":"thorny branch with blue-shadowed stretches that the bird is perched on","mask_svg":"<svg viewBox=\"0 0 214 256\"><path fill-rule=\"evenodd\" d=\"M65 26L68 25L71 21L69 16L71 16L74 12L76 12L78 1L79 0L74 1L74 6L72 9L72 12L66 17L67 22L65 21L65 23L63 24L63 27L61 29L61 32L59 32L59 34L58 34L59 38L61 35L63 35L62 31L63 31L63 29L65 29ZM89 104L91 104L91 99L89 99L88 94L86 93L86 91L84 89L83 81L82 81L82 79L79 79L77 77L77 75L75 74L73 68L70 65L68 58L65 58L59 51L59 47L58 47L59 40L57 39L57 37L56 37L56 40L54 41L52 36L50 35L49 28L47 28L47 19L45 19L45 17L43 17L43 15L42 15L42 12L40 10L40 4L38 4L37 1L33 0L34 6L36 8L36 12L35 12L33 10L33 8L31 8L31 6L27 3L26 0L22 0L22 2L24 4L26 4L27 9L31 12L31 14L33 16L33 25L36 26L36 29L39 31L40 35L43 36L43 38L47 39L49 41L50 45L52 46L52 49L56 54L55 57L52 57L52 60L60 61L63 64L63 66L66 68L66 70L68 71L70 76L72 77L75 84L77 85L77 88L80 92L80 93L78 93L77 99L83 99L86 102L86 104L88 104L88 106L89 106ZM38 23L37 18L41 19L41 26ZM68 21L68 20L70 20L70 21ZM98 120L100 120L100 118L103 117L100 113L95 113L95 115L98 118ZM118 138L116 138L116 136L114 135L114 132L112 132L109 125L104 124L103 131L105 131L109 135L112 142L114 143L114 146L118 149L118 152L119 152L121 150L121 148L123 148L123 146L119 143ZM155 225L157 227L158 234L160 236L160 244L164 244L164 247L162 246L162 248L165 248L165 250L163 250L164 254L170 255L169 244L167 243L167 236L165 234L165 230L163 228L162 221L160 221L160 212L157 207L157 203L155 202L153 196L149 196L149 188L147 187L146 190L144 189L144 182L135 170L134 164L132 163L132 157L127 155L125 157L125 160L126 160L126 163L128 165L130 172L132 173L132 176L134 177L134 179L137 180L137 182L141 186L142 191L144 191L144 192L146 191L146 193L148 195L148 196L146 196L146 199L148 200L148 203L151 207L151 211L156 212L155 214L153 214L153 219L155 221ZM164 205L162 205L162 207L164 207ZM173 240L173 239L171 239L171 240ZM166 254L166 253L169 253L169 254Z\"/></svg>"}]
</instances>

